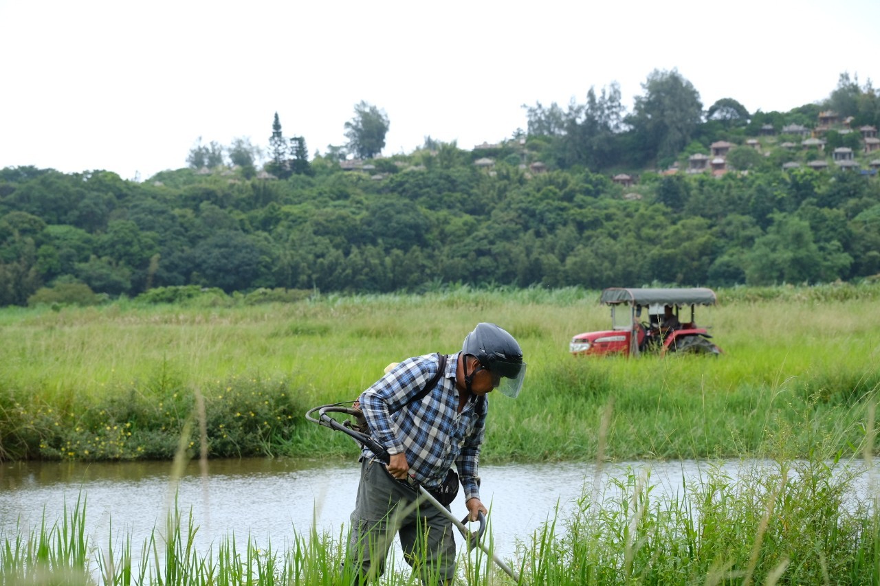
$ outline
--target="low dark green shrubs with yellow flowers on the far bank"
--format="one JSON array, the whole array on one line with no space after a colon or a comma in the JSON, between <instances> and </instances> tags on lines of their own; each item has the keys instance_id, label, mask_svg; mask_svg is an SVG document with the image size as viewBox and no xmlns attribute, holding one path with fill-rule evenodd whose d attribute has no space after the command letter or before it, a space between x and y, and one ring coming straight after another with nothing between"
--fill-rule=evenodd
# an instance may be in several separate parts
<instances>
[{"instance_id":1,"label":"low dark green shrubs with yellow flowers on the far bank","mask_svg":"<svg viewBox=\"0 0 880 586\"><path fill-rule=\"evenodd\" d=\"M165 367L102 399L81 397L63 413L0 393L0 461L171 459L181 443L193 457L202 418L209 457L271 456L303 421L288 381L231 377L216 385L205 389L202 413L195 391Z\"/></svg>"}]
</instances>

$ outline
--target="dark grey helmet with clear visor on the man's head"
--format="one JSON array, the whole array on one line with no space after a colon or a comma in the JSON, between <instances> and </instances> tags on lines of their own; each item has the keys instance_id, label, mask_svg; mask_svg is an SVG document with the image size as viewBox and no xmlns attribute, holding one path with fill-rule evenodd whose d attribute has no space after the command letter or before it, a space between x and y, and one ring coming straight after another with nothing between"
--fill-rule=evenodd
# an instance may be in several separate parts
<instances>
[{"instance_id":1,"label":"dark grey helmet with clear visor on the man's head","mask_svg":"<svg viewBox=\"0 0 880 586\"><path fill-rule=\"evenodd\" d=\"M463 355L472 355L480 365L501 377L498 391L515 399L523 388L525 363L523 350L510 333L501 327L481 322L468 333L461 348Z\"/></svg>"}]
</instances>

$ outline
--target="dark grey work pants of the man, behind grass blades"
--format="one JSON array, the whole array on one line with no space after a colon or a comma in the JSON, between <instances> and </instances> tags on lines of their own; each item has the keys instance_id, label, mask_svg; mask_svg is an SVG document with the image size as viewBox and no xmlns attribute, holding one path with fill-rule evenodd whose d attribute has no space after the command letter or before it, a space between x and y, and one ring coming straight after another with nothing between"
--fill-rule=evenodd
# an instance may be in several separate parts
<instances>
[{"instance_id":1,"label":"dark grey work pants of the man, behind grass blades","mask_svg":"<svg viewBox=\"0 0 880 586\"><path fill-rule=\"evenodd\" d=\"M429 502L414 506L416 496L394 480L381 462L361 463L348 541L349 561L355 568L360 566L356 584L382 575L395 532L407 563L419 572L423 584L452 583L455 539L451 521Z\"/></svg>"}]
</instances>

